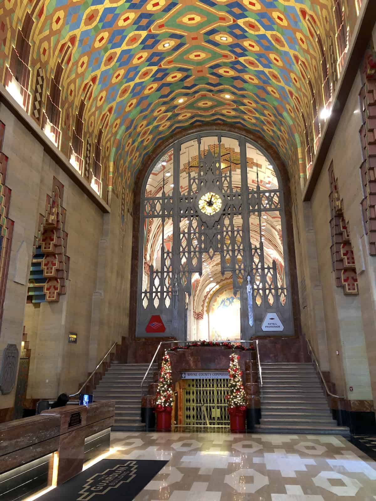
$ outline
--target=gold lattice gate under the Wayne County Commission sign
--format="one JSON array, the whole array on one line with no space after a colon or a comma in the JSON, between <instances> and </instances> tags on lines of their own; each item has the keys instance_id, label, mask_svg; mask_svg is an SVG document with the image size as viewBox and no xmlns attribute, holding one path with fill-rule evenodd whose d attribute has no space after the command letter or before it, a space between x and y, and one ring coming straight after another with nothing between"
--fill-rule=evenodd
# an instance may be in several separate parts
<instances>
[{"instance_id":1,"label":"gold lattice gate under the Wayne County Commission sign","mask_svg":"<svg viewBox=\"0 0 376 501\"><path fill-rule=\"evenodd\" d=\"M229 426L226 395L229 379L186 379L185 426Z\"/></svg>"}]
</instances>

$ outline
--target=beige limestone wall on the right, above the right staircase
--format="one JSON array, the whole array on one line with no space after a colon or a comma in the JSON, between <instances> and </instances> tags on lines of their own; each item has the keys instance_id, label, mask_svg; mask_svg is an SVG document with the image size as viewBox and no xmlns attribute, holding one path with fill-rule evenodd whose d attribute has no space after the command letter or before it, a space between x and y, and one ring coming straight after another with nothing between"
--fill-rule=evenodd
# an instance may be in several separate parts
<instances>
[{"instance_id":1,"label":"beige limestone wall on the right, above the right staircase","mask_svg":"<svg viewBox=\"0 0 376 501\"><path fill-rule=\"evenodd\" d=\"M299 273L305 277L306 284L309 284L307 303L308 308L312 308L311 312L305 313L305 318L310 320L306 321L303 330L312 340L322 369L330 372L330 379L335 383L337 393L351 401L362 400L371 403L371 381L372 384L373 381L376 383L371 341L372 336L374 337L375 318L372 304L376 291L376 262L367 250L360 207L360 88L361 80L358 74L348 95L311 201L300 204L299 222L304 243L298 252L301 256ZM359 281L358 295L344 295L343 289L336 287L332 271L328 175L331 162L338 179L340 197L343 199L344 217L348 221ZM350 391L350 386L353 391ZM376 398L375 389L373 388L373 398ZM359 410L368 409L363 406Z\"/></svg>"}]
</instances>

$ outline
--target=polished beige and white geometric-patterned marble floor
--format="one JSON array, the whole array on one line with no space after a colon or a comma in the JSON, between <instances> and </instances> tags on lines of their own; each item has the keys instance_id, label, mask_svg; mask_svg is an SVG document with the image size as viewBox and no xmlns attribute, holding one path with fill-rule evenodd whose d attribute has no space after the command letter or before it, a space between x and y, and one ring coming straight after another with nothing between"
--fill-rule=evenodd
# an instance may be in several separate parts
<instances>
[{"instance_id":1,"label":"polished beige and white geometric-patterned marble floor","mask_svg":"<svg viewBox=\"0 0 376 501\"><path fill-rule=\"evenodd\" d=\"M342 437L114 432L109 458L169 462L135 501L376 500L376 462Z\"/></svg>"}]
</instances>

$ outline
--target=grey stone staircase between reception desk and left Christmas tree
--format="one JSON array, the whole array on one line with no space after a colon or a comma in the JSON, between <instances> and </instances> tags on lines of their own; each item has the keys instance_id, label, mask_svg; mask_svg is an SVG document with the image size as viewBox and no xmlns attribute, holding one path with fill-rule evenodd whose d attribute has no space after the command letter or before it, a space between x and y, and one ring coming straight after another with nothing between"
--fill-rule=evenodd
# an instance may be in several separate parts
<instances>
[{"instance_id":1,"label":"grey stone staircase between reception desk and left Christmas tree","mask_svg":"<svg viewBox=\"0 0 376 501\"><path fill-rule=\"evenodd\" d=\"M113 431L142 431L141 381L149 364L113 364L94 390L94 401L115 400L115 424ZM157 366L152 366L144 393L152 382Z\"/></svg>"}]
</instances>

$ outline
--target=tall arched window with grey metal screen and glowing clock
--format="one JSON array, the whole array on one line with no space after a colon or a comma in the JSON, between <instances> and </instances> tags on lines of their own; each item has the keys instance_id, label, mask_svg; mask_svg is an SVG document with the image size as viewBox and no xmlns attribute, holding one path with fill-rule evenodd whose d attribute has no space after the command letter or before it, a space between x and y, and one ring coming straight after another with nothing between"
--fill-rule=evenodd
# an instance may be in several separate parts
<instances>
[{"instance_id":1,"label":"tall arched window with grey metal screen and glowing clock","mask_svg":"<svg viewBox=\"0 0 376 501\"><path fill-rule=\"evenodd\" d=\"M219 131L177 140L144 178L140 225L136 337L294 335L282 180L260 146ZM224 308L240 302L223 325L208 321L220 290Z\"/></svg>"}]
</instances>

